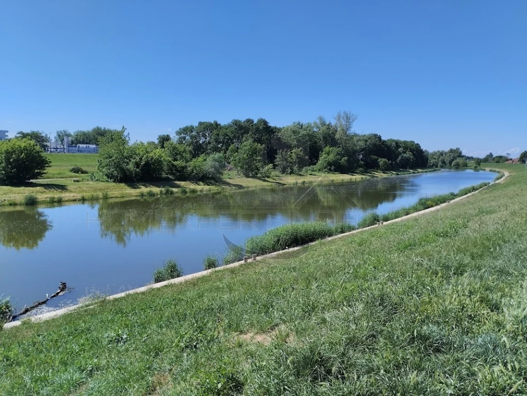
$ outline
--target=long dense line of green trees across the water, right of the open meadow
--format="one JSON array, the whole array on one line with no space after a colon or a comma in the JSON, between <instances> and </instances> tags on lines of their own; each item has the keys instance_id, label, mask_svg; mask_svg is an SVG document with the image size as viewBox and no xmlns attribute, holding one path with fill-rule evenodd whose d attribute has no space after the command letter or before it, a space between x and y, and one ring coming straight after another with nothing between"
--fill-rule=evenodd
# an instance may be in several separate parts
<instances>
[{"instance_id":1,"label":"long dense line of green trees across the water, right of the open meadow","mask_svg":"<svg viewBox=\"0 0 527 396\"><path fill-rule=\"evenodd\" d=\"M340 111L330 122L271 126L264 118L228 124L200 121L157 142L130 144L124 128L99 138L99 171L112 181L221 178L225 169L246 177L300 171L353 172L426 167L428 153L412 140L353 130L357 116Z\"/></svg>"}]
</instances>

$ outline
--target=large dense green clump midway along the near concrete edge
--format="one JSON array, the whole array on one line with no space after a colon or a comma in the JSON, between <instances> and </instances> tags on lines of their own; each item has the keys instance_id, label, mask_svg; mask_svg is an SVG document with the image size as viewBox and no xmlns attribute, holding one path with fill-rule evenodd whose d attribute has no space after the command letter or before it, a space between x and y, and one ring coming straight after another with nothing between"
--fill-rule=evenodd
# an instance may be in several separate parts
<instances>
[{"instance_id":1,"label":"large dense green clump midway along the near concrete edge","mask_svg":"<svg viewBox=\"0 0 527 396\"><path fill-rule=\"evenodd\" d=\"M333 226L324 221L292 223L273 228L262 235L251 237L245 246L250 254L265 255L278 250L305 245L319 239L324 239L354 230L350 224Z\"/></svg>"}]
</instances>

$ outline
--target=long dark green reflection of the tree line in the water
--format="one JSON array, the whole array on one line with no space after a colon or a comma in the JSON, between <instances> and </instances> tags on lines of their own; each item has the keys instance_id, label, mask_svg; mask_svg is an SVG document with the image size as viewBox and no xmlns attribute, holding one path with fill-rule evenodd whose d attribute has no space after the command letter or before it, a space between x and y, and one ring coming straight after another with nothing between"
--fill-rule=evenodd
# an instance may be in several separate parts
<instances>
[{"instance_id":1,"label":"long dark green reflection of the tree line in the water","mask_svg":"<svg viewBox=\"0 0 527 396\"><path fill-rule=\"evenodd\" d=\"M363 182L285 186L223 191L196 196L103 201L98 216L101 236L125 246L132 235L151 230L177 230L190 216L231 221L265 221L283 216L292 221L346 221L349 209L375 209L392 202L411 179L373 179Z\"/></svg>"}]
</instances>

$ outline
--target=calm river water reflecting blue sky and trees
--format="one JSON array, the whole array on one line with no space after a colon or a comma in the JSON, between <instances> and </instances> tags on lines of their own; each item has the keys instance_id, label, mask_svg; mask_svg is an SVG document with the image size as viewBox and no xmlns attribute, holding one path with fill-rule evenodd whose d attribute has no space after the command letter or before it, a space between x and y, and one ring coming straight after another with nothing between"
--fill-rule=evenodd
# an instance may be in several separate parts
<instances>
[{"instance_id":1,"label":"calm river water reflecting blue sky and trees","mask_svg":"<svg viewBox=\"0 0 527 396\"><path fill-rule=\"evenodd\" d=\"M129 290L149 283L154 269L169 258L185 274L200 271L204 257L225 254L225 238L242 244L293 221L356 224L367 212L385 213L494 177L486 171L442 170L339 184L4 208L0 296L10 296L21 308L65 281L74 289L48 303L57 307L94 293Z\"/></svg>"}]
</instances>

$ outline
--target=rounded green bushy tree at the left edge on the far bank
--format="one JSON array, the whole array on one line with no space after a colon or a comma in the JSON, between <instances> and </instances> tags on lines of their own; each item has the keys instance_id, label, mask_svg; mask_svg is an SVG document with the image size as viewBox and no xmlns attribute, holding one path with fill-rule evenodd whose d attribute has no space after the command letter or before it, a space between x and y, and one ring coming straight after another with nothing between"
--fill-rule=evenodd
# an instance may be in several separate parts
<instances>
[{"instance_id":1,"label":"rounded green bushy tree at the left edge on the far bank","mask_svg":"<svg viewBox=\"0 0 527 396\"><path fill-rule=\"evenodd\" d=\"M0 185L17 185L45 174L51 161L33 139L0 141Z\"/></svg>"}]
</instances>

